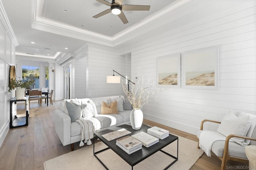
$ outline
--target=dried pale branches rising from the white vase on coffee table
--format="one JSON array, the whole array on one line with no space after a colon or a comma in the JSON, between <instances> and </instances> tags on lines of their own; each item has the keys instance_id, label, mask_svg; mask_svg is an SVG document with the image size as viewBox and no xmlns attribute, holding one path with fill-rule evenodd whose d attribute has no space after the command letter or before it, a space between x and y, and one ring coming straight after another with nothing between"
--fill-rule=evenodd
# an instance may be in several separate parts
<instances>
[{"instance_id":1,"label":"dried pale branches rising from the white vase on coffee table","mask_svg":"<svg viewBox=\"0 0 256 170\"><path fill-rule=\"evenodd\" d=\"M128 83L130 83L130 81L128 81ZM142 75L142 83L140 84L140 81L135 83L135 85L130 83L130 91L128 91L128 84L126 84L125 81L122 81L124 93L134 109L140 109L143 105L147 104L149 97L156 93L156 91L152 91L151 84L152 80L148 80L148 82L144 84Z\"/></svg>"}]
</instances>

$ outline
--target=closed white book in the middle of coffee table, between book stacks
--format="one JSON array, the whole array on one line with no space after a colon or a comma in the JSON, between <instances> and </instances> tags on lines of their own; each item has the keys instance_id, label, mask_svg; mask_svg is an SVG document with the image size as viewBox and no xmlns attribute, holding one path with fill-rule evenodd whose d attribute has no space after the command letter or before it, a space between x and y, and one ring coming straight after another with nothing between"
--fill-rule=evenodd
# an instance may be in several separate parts
<instances>
[{"instance_id":1,"label":"closed white book in the middle of coffee table, between book stacks","mask_svg":"<svg viewBox=\"0 0 256 170\"><path fill-rule=\"evenodd\" d=\"M132 135L132 137L142 142L142 145L146 146L147 148L159 142L159 138L156 138L150 134L147 134L146 132L136 133Z\"/></svg>"}]
</instances>

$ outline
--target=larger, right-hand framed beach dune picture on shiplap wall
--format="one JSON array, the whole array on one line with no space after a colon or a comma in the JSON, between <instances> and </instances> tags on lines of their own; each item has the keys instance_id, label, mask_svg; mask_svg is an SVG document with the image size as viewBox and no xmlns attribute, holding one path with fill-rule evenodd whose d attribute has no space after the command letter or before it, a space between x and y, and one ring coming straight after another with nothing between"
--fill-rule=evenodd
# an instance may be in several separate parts
<instances>
[{"instance_id":1,"label":"larger, right-hand framed beach dune picture on shiplap wall","mask_svg":"<svg viewBox=\"0 0 256 170\"><path fill-rule=\"evenodd\" d=\"M218 89L219 53L219 47L199 49L184 53L184 87Z\"/></svg>"}]
</instances>

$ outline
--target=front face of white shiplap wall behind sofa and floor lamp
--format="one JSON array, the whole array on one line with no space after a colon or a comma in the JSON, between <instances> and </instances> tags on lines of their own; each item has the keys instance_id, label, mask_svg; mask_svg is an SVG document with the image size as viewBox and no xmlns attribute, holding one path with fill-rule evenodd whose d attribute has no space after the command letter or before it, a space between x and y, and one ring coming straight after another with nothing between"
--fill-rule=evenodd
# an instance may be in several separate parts
<instances>
[{"instance_id":1,"label":"front face of white shiplap wall behind sofa and floor lamp","mask_svg":"<svg viewBox=\"0 0 256 170\"><path fill-rule=\"evenodd\" d=\"M110 48L89 45L86 56L86 97L124 95L121 84L106 83L106 77L118 73L130 77L130 56L120 56L118 51ZM78 67L79 65L76 65ZM80 65L84 67L84 65ZM115 75L118 75L115 73Z\"/></svg>"}]
</instances>

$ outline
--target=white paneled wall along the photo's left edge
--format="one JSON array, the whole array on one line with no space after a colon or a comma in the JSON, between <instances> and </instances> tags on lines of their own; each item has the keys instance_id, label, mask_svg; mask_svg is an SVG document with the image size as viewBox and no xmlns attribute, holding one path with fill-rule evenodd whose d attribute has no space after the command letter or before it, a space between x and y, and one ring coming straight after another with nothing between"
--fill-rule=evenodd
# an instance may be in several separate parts
<instances>
[{"instance_id":1,"label":"white paneled wall along the photo's left edge","mask_svg":"<svg viewBox=\"0 0 256 170\"><path fill-rule=\"evenodd\" d=\"M8 83L10 65L15 64L14 53L16 45L18 45L17 40L14 38L12 28L0 1L0 147L4 142L10 125L9 101L15 95L15 92L8 92Z\"/></svg>"}]
</instances>

